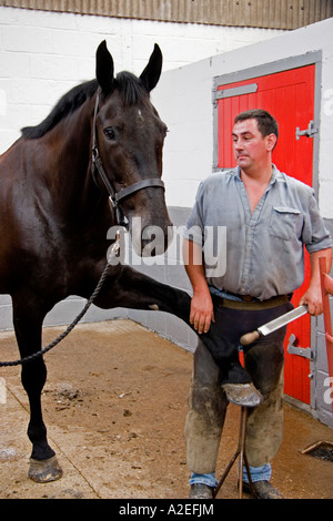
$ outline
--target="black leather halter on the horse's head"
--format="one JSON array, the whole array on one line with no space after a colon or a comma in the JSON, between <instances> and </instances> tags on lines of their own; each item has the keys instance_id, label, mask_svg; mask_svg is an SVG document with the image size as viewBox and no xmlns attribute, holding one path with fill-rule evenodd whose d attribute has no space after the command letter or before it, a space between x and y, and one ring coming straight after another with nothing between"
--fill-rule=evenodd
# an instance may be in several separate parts
<instances>
[{"instance_id":1,"label":"black leather halter on the horse's head","mask_svg":"<svg viewBox=\"0 0 333 521\"><path fill-rule=\"evenodd\" d=\"M109 193L109 198L111 202L112 207L114 208L115 213L115 218L117 223L120 224L121 226L128 227L128 223L124 218L123 212L119 206L119 202L131 196L135 192L139 192L139 190L143 188L149 188L149 187L158 187L158 188L163 188L164 190L164 183L160 178L150 178L150 180L142 180L138 181L138 183L133 183L119 192L115 192L114 187L112 186L111 181L109 180L103 164L102 160L99 153L98 149L98 139L97 139L97 113L98 113L98 106L99 106L99 95L97 95L95 99L95 105L94 105L94 114L93 114L93 142L92 142L92 174L94 176L95 171L100 174L100 177L102 182L104 183L104 186Z\"/></svg>"}]
</instances>

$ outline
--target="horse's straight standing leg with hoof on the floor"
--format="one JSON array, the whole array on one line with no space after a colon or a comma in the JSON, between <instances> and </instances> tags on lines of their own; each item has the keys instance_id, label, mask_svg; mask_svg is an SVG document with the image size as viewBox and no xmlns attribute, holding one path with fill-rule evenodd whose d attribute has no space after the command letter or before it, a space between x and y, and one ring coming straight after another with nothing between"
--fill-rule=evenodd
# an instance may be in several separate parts
<instances>
[{"instance_id":1,"label":"horse's straight standing leg with hoof on the floor","mask_svg":"<svg viewBox=\"0 0 333 521\"><path fill-rule=\"evenodd\" d=\"M13 299L13 324L22 358L41 349L42 320L33 306L20 309ZM21 379L30 405L28 437L32 443L32 452L29 478L40 483L54 481L61 478L62 470L48 443L47 428L42 418L41 391L47 379L47 367L42 357L22 365Z\"/></svg>"}]
</instances>

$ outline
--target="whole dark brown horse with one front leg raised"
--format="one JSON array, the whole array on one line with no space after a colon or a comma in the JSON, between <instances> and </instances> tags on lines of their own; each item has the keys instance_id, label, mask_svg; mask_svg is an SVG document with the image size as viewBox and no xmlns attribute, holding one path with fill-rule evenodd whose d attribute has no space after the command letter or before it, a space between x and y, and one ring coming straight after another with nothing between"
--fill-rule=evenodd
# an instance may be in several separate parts
<instances>
[{"instance_id":1,"label":"whole dark brown horse with one front leg raised","mask_svg":"<svg viewBox=\"0 0 333 521\"><path fill-rule=\"evenodd\" d=\"M57 303L69 295L90 297L107 264L108 229L119 214L139 254L147 244L143 233L135 236L133 217L141 218L142 231L159 226L168 247L171 222L161 182L167 126L149 96L161 67L155 45L140 78L128 72L114 78L102 42L97 79L72 89L0 157L0 293L12 298L21 357L41 348L44 316ZM160 309L189 324L189 295L121 263L109 269L94 304ZM42 357L22 365L30 402L29 476L39 482L61 476L42 419L46 378Z\"/></svg>"}]
</instances>

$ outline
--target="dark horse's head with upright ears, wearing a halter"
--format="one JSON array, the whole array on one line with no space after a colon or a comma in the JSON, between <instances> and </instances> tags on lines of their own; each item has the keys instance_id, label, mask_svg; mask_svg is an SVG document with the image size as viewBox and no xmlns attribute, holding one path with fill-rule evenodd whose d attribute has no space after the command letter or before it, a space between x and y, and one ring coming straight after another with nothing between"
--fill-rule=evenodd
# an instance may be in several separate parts
<instances>
[{"instance_id":1,"label":"dark horse's head with upright ears, wearing a halter","mask_svg":"<svg viewBox=\"0 0 333 521\"><path fill-rule=\"evenodd\" d=\"M155 44L140 78L113 76L113 60L102 42L97 51L99 94L94 118L94 164L107 186L115 214L129 222L139 255L161 254L171 234L162 175L167 126L150 101L162 69ZM152 233L154 232L154 236ZM150 246L153 252L150 252Z\"/></svg>"}]
</instances>

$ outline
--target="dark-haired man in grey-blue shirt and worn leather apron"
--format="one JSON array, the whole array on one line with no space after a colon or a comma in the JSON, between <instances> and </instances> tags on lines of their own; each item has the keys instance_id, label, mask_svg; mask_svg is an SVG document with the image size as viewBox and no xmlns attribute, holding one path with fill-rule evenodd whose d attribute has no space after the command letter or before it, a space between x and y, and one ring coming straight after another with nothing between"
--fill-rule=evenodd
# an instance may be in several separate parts
<instances>
[{"instance_id":1,"label":"dark-haired man in grey-blue shirt and worn leather apron","mask_svg":"<svg viewBox=\"0 0 333 521\"><path fill-rule=\"evenodd\" d=\"M292 308L292 293L304 278L304 245L312 274L300 304L306 304L311 315L322 313L317 258L325 256L330 268L332 241L313 190L272 164L278 135L278 123L265 111L235 118L232 137L238 168L201 183L184 233L184 264L193 288L190 321L203 339L211 327L218 328L222 349L238 349L243 333ZM214 273L206 276L204 264L205 229L212 226L226 227L226 269L215 277ZM244 349L245 368L260 391L260 399L248 403L255 407L249 409L246 423L246 456L258 498L281 498L270 477L283 436L285 330ZM236 364L234 367L238 374ZM218 484L215 461L226 406L238 402L233 399L235 385L230 385L238 379L234 375L225 379L228 371L199 340L185 423L191 498L212 499ZM239 381L241 389L242 378ZM246 472L243 482L246 490Z\"/></svg>"}]
</instances>

